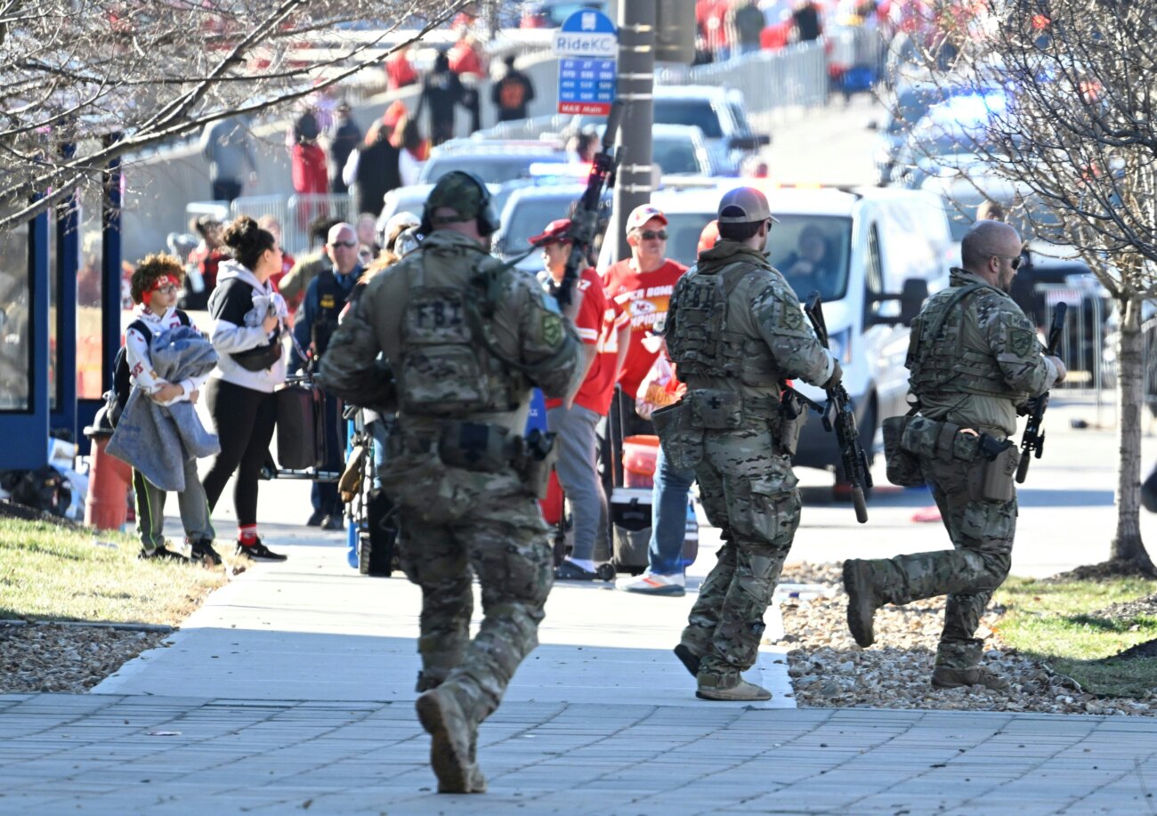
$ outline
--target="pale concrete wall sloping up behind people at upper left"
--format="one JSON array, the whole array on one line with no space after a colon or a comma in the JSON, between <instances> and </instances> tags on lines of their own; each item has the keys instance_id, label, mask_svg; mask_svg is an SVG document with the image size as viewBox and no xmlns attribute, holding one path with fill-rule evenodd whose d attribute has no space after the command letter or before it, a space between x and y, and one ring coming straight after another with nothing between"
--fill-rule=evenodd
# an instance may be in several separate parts
<instances>
[{"instance_id":1,"label":"pale concrete wall sloping up behind people at upper left","mask_svg":"<svg viewBox=\"0 0 1157 816\"><path fill-rule=\"evenodd\" d=\"M530 115L553 113L558 101L558 60L539 52L519 59L518 67L531 78L537 93L530 105ZM496 122L495 111L489 103L489 86L488 80L480 84L482 127ZM418 102L418 90L405 88L355 103L354 120L364 131L397 98L413 110ZM271 119L255 127L258 181L255 185L246 184L242 194L293 194L289 156L285 148L285 131L289 122L288 118ZM455 133L469 135L469 116L459 109ZM425 132L425 113L421 126ZM169 233L187 231L186 205L209 199L208 163L201 157L197 139L168 146L148 155L126 159L125 182L124 257L130 262L164 249Z\"/></svg>"}]
</instances>

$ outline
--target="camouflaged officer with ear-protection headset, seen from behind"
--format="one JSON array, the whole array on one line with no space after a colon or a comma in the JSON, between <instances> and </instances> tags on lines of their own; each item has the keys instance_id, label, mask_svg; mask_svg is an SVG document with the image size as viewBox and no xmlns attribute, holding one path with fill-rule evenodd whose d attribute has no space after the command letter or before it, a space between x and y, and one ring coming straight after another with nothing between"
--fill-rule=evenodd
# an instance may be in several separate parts
<instances>
[{"instance_id":1,"label":"camouflaged officer with ear-protection headset, seen from behind","mask_svg":"<svg viewBox=\"0 0 1157 816\"><path fill-rule=\"evenodd\" d=\"M478 725L538 642L553 575L536 501L550 442L522 432L532 387L567 395L580 351L533 275L487 253L498 226L477 176L443 176L426 240L368 284L320 375L354 404L398 412L379 475L400 507L403 568L422 588L418 714L442 793L486 789ZM485 612L473 640L472 573Z\"/></svg>"}]
</instances>

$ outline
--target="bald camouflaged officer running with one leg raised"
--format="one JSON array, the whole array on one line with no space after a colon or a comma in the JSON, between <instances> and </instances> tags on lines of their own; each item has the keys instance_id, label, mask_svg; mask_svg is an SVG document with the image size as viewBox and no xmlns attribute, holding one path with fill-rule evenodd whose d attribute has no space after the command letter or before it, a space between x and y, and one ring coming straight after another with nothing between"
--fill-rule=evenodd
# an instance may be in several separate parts
<instances>
[{"instance_id":1,"label":"bald camouflaged officer running with one leg raised","mask_svg":"<svg viewBox=\"0 0 1157 816\"><path fill-rule=\"evenodd\" d=\"M960 249L964 269L912 323L907 366L919 413L906 418L899 449L931 488L953 550L845 561L848 626L861 646L875 640L872 616L885 603L948 595L933 686L1004 690L982 668L973 637L993 590L1008 575L1016 530L1017 406L1064 378L1046 358L1032 323L1008 296L1020 236L978 221ZM890 468L892 462L890 461Z\"/></svg>"}]
</instances>

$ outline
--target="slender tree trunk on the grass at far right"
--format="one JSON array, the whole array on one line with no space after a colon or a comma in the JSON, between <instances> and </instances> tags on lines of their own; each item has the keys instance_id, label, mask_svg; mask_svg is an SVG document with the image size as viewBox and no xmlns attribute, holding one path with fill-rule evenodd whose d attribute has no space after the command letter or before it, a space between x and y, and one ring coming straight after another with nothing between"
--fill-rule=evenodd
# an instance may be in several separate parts
<instances>
[{"instance_id":1,"label":"slender tree trunk on the grass at far right","mask_svg":"<svg viewBox=\"0 0 1157 816\"><path fill-rule=\"evenodd\" d=\"M1117 535L1110 560L1126 561L1138 571L1157 574L1141 541L1141 410L1144 406L1144 336L1141 301L1119 297L1121 314L1117 360L1118 422Z\"/></svg>"}]
</instances>

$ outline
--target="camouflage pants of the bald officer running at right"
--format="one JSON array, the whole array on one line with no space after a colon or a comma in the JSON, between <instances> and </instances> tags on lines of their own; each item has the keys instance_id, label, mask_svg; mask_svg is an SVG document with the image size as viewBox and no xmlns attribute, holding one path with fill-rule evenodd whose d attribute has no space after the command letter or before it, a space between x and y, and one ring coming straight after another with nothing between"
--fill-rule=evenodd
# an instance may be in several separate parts
<instances>
[{"instance_id":1,"label":"camouflage pants of the bald officer running at right","mask_svg":"<svg viewBox=\"0 0 1157 816\"><path fill-rule=\"evenodd\" d=\"M948 595L944 631L936 664L968 669L980 660L975 639L980 616L1009 573L1016 532L1016 498L980 501L968 498L973 463L920 457L953 550L897 556L872 561L877 591L889 603L908 603Z\"/></svg>"}]
</instances>

